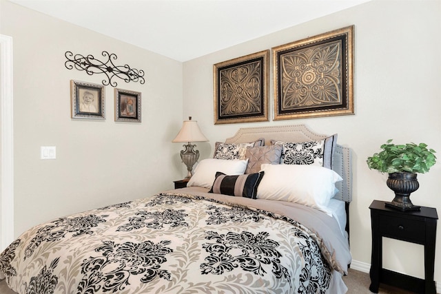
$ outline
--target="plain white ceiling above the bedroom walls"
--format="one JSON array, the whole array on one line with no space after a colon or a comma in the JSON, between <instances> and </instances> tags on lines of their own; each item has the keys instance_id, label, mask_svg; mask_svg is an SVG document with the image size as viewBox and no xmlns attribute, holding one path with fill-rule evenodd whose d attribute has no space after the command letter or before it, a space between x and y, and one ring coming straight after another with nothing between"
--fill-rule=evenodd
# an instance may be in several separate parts
<instances>
[{"instance_id":1,"label":"plain white ceiling above the bedroom walls","mask_svg":"<svg viewBox=\"0 0 441 294\"><path fill-rule=\"evenodd\" d=\"M370 0L10 0L189 61Z\"/></svg>"}]
</instances>

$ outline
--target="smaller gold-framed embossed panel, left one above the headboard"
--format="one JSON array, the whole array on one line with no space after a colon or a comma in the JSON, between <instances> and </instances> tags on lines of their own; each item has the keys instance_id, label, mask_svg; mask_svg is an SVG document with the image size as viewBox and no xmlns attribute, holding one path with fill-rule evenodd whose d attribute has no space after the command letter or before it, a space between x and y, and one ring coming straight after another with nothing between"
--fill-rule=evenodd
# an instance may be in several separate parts
<instances>
[{"instance_id":1,"label":"smaller gold-framed embossed panel, left one above the headboard","mask_svg":"<svg viewBox=\"0 0 441 294\"><path fill-rule=\"evenodd\" d=\"M269 50L214 65L214 124L268 120Z\"/></svg>"}]
</instances>

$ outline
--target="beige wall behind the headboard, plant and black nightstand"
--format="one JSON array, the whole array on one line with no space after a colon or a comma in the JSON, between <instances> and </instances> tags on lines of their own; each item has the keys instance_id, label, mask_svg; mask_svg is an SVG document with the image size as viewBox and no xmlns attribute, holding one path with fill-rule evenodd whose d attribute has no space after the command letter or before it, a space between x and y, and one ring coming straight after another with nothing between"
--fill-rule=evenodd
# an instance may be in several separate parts
<instances>
[{"instance_id":1,"label":"beige wall behind the headboard, plant and black nightstand","mask_svg":"<svg viewBox=\"0 0 441 294\"><path fill-rule=\"evenodd\" d=\"M183 113L198 120L211 143L232 136L238 127L257 125L305 123L322 134L338 132L339 143L353 149L354 185L350 207L353 260L358 268L369 271L368 207L374 199L392 200L393 192L385 184L387 175L369 170L365 160L387 139L393 138L396 143L424 142L438 150L439 162L429 174L418 176L420 189L412 194L411 200L436 207L441 215L440 17L440 1L372 1L187 61L183 74ZM347 25L355 25L354 116L214 125L214 63ZM220 38L227 37L222 32L216 33ZM203 146L201 153L202 157L210 156L212 145ZM435 260L438 289L441 285L440 227ZM424 277L422 254L420 245L384 242L384 266L389 269Z\"/></svg>"}]
</instances>

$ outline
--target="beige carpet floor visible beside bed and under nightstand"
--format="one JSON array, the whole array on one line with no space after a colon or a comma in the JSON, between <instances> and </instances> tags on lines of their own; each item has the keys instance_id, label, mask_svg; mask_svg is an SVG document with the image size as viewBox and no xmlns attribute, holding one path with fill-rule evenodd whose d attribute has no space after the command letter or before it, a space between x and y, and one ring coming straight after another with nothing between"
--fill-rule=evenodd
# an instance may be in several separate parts
<instances>
[{"instance_id":1,"label":"beige carpet floor visible beside bed and under nightstand","mask_svg":"<svg viewBox=\"0 0 441 294\"><path fill-rule=\"evenodd\" d=\"M361 271L356 271L354 269L349 269L347 276L343 277L345 284L349 290L347 294L370 294L369 285L371 284L371 279L369 273L362 273ZM8 286L6 286L5 280L0 281L0 293L1 294L14 294L14 291L10 291ZM387 285L380 285L378 289L379 294L411 294L409 291L404 291L398 288L393 288ZM337 294L337 293L336 293Z\"/></svg>"}]
</instances>

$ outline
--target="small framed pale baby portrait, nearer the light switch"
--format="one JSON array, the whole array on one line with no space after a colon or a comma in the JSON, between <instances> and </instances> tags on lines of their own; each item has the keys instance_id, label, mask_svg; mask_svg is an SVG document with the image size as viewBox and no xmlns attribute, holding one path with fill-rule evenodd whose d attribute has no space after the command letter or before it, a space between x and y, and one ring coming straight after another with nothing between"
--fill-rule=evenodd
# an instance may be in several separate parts
<instances>
[{"instance_id":1,"label":"small framed pale baby portrait, nearer the light switch","mask_svg":"<svg viewBox=\"0 0 441 294\"><path fill-rule=\"evenodd\" d=\"M72 118L105 119L104 86L70 81Z\"/></svg>"}]
</instances>

